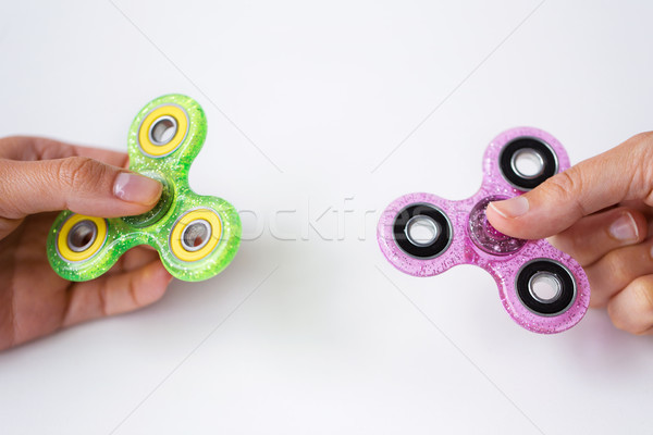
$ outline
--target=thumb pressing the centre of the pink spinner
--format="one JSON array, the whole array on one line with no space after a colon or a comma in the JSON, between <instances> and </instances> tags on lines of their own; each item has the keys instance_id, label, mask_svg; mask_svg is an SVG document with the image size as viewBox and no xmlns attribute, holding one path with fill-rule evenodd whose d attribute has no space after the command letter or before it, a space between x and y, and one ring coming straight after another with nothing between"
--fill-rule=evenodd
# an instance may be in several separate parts
<instances>
[{"instance_id":1,"label":"thumb pressing the centre of the pink spinner","mask_svg":"<svg viewBox=\"0 0 653 435\"><path fill-rule=\"evenodd\" d=\"M502 233L519 238L558 234L580 217L624 200L653 204L653 133L580 162L533 190L490 203L488 219Z\"/></svg>"}]
</instances>

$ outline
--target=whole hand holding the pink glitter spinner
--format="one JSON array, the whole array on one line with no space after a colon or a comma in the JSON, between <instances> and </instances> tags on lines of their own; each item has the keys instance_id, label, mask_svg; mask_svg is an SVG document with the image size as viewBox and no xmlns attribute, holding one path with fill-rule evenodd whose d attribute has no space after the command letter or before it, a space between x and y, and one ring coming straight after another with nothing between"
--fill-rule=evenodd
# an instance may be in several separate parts
<instances>
[{"instance_id":1,"label":"whole hand holding the pink glitter spinner","mask_svg":"<svg viewBox=\"0 0 653 435\"><path fill-rule=\"evenodd\" d=\"M584 269L591 307L606 307L618 328L653 334L652 132L491 203L488 219L513 237L549 237Z\"/></svg>"}]
</instances>

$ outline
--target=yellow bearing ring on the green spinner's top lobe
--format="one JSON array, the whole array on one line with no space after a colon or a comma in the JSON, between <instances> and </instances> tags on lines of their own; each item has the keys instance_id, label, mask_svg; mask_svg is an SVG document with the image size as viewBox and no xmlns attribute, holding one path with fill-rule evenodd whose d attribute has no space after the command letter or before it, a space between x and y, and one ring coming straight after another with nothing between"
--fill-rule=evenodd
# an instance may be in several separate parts
<instances>
[{"instance_id":1,"label":"yellow bearing ring on the green spinner's top lobe","mask_svg":"<svg viewBox=\"0 0 653 435\"><path fill-rule=\"evenodd\" d=\"M165 127L176 127L174 136L168 141L158 141L152 134L161 125ZM186 137L188 129L188 117L186 112L177 105L161 105L152 110L140 123L138 130L138 144L140 149L148 156L159 158L173 152Z\"/></svg>"}]
</instances>

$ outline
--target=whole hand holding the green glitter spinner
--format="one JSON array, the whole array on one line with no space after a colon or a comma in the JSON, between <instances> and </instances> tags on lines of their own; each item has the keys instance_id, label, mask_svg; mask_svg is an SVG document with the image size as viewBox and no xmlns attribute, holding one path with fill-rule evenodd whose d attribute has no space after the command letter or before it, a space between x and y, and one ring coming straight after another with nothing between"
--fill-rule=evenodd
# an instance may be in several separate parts
<instances>
[{"instance_id":1,"label":"whole hand holding the green glitter spinner","mask_svg":"<svg viewBox=\"0 0 653 435\"><path fill-rule=\"evenodd\" d=\"M74 283L48 262L46 239L61 210L140 214L161 184L124 169L127 154L35 137L0 139L0 350L160 299L172 276L157 251L127 251L101 277Z\"/></svg>"}]
</instances>

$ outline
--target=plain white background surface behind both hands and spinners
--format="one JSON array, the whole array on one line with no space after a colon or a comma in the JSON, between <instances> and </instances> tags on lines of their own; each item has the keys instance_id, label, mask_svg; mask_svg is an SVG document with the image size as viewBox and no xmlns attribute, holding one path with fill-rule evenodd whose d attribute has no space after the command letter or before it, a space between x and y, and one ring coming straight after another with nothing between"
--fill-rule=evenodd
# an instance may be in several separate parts
<instances>
[{"instance_id":1,"label":"plain white background surface behind both hands and spinners","mask_svg":"<svg viewBox=\"0 0 653 435\"><path fill-rule=\"evenodd\" d=\"M125 150L146 102L186 94L209 120L193 187L259 219L218 277L0 353L0 433L650 432L650 337L602 311L528 333L482 270L404 275L374 225L406 192L473 194L505 128L574 162L650 129L653 5L547 1L516 30L537 1L116 5L134 25L0 5L0 135Z\"/></svg>"}]
</instances>

